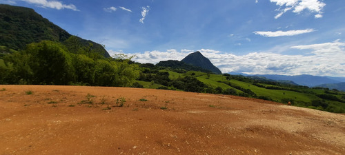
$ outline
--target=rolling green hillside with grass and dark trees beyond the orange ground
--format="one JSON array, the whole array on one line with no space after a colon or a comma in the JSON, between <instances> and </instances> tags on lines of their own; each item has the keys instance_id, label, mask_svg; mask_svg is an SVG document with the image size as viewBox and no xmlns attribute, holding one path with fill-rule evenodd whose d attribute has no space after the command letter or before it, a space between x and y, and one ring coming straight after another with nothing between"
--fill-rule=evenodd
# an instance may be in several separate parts
<instances>
[{"instance_id":1,"label":"rolling green hillside with grass and dark trees beyond the orange ground","mask_svg":"<svg viewBox=\"0 0 345 155\"><path fill-rule=\"evenodd\" d=\"M230 74L204 72L175 72L148 68L138 79L140 87L163 90L183 90L212 94L232 94L256 99L288 103L328 112L345 113L345 92L322 87L310 88L280 81L252 79ZM157 85L153 85L157 84ZM159 85L159 86L158 86Z\"/></svg>"}]
</instances>

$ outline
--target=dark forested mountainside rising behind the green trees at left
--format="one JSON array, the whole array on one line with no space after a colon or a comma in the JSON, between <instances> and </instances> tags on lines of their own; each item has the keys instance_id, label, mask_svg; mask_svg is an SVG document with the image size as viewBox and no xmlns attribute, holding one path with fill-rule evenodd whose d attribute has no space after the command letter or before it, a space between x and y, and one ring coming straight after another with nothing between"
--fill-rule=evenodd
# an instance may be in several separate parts
<instances>
[{"instance_id":1,"label":"dark forested mountainside rising behind the green trees at left","mask_svg":"<svg viewBox=\"0 0 345 155\"><path fill-rule=\"evenodd\" d=\"M0 45L13 50L26 48L28 43L43 40L63 43L72 35L43 18L31 8L0 4ZM92 50L110 57L102 45L77 37L84 46L92 43Z\"/></svg>"}]
</instances>

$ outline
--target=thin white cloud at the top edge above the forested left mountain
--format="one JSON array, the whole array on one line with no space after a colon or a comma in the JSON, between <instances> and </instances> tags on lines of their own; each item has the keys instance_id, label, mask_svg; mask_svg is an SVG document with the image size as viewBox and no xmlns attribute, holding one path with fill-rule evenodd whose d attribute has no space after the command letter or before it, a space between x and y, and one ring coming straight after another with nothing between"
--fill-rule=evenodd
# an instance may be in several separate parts
<instances>
[{"instance_id":1,"label":"thin white cloud at the top edge above the forested left mountain","mask_svg":"<svg viewBox=\"0 0 345 155\"><path fill-rule=\"evenodd\" d=\"M25 1L27 3L33 3L43 8L53 8L57 10L70 9L70 10L79 11L75 5L73 4L66 5L66 4L63 4L61 1L47 1L47 0L21 0L21 1Z\"/></svg>"}]
</instances>

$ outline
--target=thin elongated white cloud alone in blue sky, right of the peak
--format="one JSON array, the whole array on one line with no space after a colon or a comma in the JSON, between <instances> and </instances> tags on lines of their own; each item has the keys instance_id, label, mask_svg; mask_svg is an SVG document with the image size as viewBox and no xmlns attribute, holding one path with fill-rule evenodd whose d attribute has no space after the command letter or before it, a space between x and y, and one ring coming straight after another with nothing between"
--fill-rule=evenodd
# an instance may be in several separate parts
<instances>
[{"instance_id":1,"label":"thin elongated white cloud alone in blue sky, right of the peak","mask_svg":"<svg viewBox=\"0 0 345 155\"><path fill-rule=\"evenodd\" d=\"M282 37L282 36L295 36L298 34L310 33L314 32L313 29L306 29L306 30L290 30L290 31L255 31L254 34L259 34L264 37Z\"/></svg>"}]
</instances>

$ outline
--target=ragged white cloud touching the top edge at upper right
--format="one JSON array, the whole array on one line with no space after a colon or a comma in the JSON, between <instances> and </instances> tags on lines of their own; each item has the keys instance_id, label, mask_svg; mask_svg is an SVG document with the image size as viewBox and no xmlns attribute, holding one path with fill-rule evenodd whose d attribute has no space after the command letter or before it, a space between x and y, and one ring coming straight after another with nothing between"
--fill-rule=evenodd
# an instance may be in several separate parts
<instances>
[{"instance_id":1,"label":"ragged white cloud touching the top edge at upper right","mask_svg":"<svg viewBox=\"0 0 345 155\"><path fill-rule=\"evenodd\" d=\"M304 10L308 10L310 12L316 12L315 18L322 17L322 9L326 6L320 0L270 0L272 3L276 3L279 6L279 13L275 16L275 19L282 17L282 15L287 12L288 10L292 10L294 13L301 13ZM282 7L286 7L282 10Z\"/></svg>"}]
</instances>

